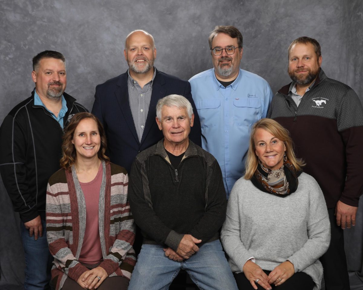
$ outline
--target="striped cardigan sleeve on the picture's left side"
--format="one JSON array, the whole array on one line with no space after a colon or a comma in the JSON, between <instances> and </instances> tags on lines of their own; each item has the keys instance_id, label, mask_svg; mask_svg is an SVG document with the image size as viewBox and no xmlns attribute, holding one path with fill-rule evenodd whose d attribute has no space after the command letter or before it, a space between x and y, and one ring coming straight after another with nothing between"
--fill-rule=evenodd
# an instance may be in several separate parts
<instances>
[{"instance_id":1,"label":"striped cardigan sleeve on the picture's left side","mask_svg":"<svg viewBox=\"0 0 363 290\"><path fill-rule=\"evenodd\" d=\"M60 187L58 187L58 185L60 185ZM50 186L48 183L47 186L45 209L46 237L49 251L55 258L54 264L72 280L78 281L78 278L82 273L86 272L88 269L78 262L64 236L63 229L72 227L72 220L68 222L68 215L62 213L62 205L65 205L66 196L68 196L65 191L62 190L62 185L64 186L66 184L56 183Z\"/></svg>"}]
</instances>

